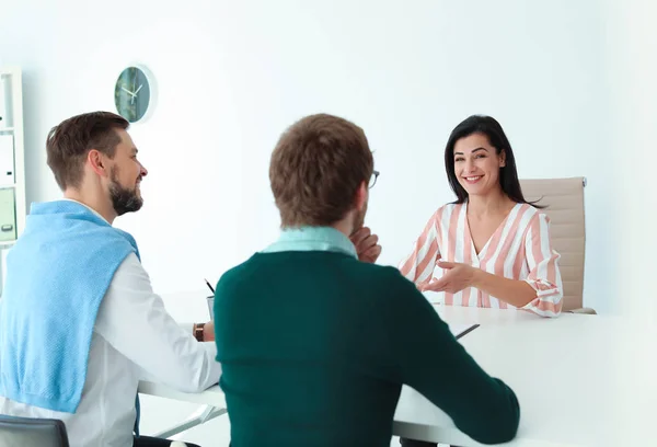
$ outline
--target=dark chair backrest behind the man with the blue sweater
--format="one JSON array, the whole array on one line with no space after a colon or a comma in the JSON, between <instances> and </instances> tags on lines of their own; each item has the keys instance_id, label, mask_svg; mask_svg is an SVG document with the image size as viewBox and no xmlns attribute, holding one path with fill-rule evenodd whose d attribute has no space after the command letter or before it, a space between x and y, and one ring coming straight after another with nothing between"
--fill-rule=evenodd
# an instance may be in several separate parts
<instances>
[{"instance_id":1,"label":"dark chair backrest behind the man with the blue sweater","mask_svg":"<svg viewBox=\"0 0 657 447\"><path fill-rule=\"evenodd\" d=\"M0 446L69 447L69 442L59 420L0 415Z\"/></svg>"}]
</instances>

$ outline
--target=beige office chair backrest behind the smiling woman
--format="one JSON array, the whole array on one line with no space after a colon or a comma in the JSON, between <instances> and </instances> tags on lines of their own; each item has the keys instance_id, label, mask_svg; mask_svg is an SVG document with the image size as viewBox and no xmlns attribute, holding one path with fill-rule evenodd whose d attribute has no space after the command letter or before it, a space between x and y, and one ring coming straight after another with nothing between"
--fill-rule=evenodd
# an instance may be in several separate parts
<instances>
[{"instance_id":1,"label":"beige office chair backrest behind the smiling woman","mask_svg":"<svg viewBox=\"0 0 657 447\"><path fill-rule=\"evenodd\" d=\"M520 180L529 202L540 200L550 217L554 250L561 254L560 271L564 286L563 311L596 313L583 308L584 253L586 247L584 187L585 177Z\"/></svg>"}]
</instances>

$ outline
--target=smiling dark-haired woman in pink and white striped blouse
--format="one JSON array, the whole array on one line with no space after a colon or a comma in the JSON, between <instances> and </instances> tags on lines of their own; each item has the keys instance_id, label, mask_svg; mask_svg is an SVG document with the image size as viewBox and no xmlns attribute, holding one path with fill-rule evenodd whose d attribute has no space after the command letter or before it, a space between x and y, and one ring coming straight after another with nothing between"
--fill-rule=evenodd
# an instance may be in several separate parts
<instances>
[{"instance_id":1,"label":"smiling dark-haired woman in pink and white striped blouse","mask_svg":"<svg viewBox=\"0 0 657 447\"><path fill-rule=\"evenodd\" d=\"M402 262L423 291L456 306L521 308L543 317L562 309L560 254L550 219L522 195L511 145L489 116L451 133L445 168L457 200L440 207Z\"/></svg>"}]
</instances>

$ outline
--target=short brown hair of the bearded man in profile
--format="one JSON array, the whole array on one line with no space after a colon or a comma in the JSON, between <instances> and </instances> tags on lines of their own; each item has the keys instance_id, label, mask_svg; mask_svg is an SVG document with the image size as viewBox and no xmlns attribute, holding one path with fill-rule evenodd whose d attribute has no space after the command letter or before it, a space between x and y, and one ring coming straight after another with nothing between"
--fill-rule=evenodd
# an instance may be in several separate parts
<instances>
[{"instance_id":1,"label":"short brown hair of the bearded man in profile","mask_svg":"<svg viewBox=\"0 0 657 447\"><path fill-rule=\"evenodd\" d=\"M110 112L92 112L61 122L48 133L46 152L48 167L64 191L82 182L84 159L91 149L114 157L120 136L116 129L127 129L129 123Z\"/></svg>"}]
</instances>

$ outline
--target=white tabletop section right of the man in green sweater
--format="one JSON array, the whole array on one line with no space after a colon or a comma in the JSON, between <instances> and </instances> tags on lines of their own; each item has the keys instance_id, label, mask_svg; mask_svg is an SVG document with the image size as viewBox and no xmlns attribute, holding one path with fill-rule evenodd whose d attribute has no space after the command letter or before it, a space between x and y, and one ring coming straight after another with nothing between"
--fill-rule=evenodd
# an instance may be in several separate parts
<instances>
[{"instance_id":1,"label":"white tabletop section right of the man in green sweater","mask_svg":"<svg viewBox=\"0 0 657 447\"><path fill-rule=\"evenodd\" d=\"M451 307L438 312L448 322L466 319L481 324L460 342L518 396L520 427L508 446L657 445L652 429L657 349L654 343L641 347L637 322L568 313L542 319L522 311ZM481 446L408 387L402 390L393 432Z\"/></svg>"}]
</instances>

